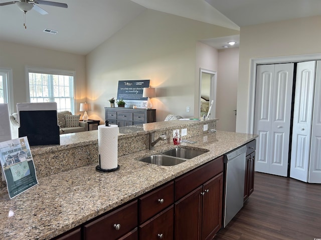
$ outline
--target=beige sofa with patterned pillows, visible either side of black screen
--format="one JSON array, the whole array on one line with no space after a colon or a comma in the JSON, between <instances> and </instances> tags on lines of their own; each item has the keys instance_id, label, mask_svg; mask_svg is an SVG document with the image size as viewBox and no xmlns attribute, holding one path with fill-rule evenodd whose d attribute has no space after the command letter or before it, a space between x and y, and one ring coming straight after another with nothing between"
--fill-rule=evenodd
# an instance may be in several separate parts
<instances>
[{"instance_id":1,"label":"beige sofa with patterned pillows, visible either side of black screen","mask_svg":"<svg viewBox=\"0 0 321 240\"><path fill-rule=\"evenodd\" d=\"M18 137L18 113L12 113L9 118L11 122L11 135L14 139ZM72 115L70 111L58 111L57 120L60 134L87 131L88 123L85 121L79 121L79 118L80 114Z\"/></svg>"}]
</instances>

